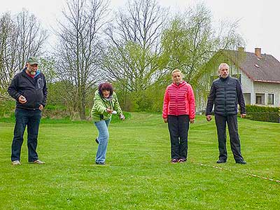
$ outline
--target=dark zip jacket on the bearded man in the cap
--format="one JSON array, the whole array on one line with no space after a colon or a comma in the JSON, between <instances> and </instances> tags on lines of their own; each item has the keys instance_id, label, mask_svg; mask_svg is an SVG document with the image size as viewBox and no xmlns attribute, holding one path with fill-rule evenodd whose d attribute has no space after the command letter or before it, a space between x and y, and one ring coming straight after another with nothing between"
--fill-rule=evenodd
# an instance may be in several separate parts
<instances>
[{"instance_id":1,"label":"dark zip jacket on the bearded man in the cap","mask_svg":"<svg viewBox=\"0 0 280 210\"><path fill-rule=\"evenodd\" d=\"M38 109L40 104L45 106L47 101L48 89L45 83L45 76L38 71L34 78L26 73L26 68L16 74L10 86L8 93L17 101L19 109ZM27 103L20 104L18 98L23 95L27 99Z\"/></svg>"}]
</instances>

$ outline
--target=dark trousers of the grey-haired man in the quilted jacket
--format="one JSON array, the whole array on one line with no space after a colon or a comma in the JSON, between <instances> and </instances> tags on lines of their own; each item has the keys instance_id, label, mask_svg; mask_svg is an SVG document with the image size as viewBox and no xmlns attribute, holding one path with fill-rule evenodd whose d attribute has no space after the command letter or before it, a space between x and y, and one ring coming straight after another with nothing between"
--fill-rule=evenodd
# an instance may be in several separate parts
<instances>
[{"instance_id":1,"label":"dark trousers of the grey-haired man in the quilted jacket","mask_svg":"<svg viewBox=\"0 0 280 210\"><path fill-rule=\"evenodd\" d=\"M218 149L220 152L219 159L227 160L228 152L226 147L227 132L225 130L228 124L228 132L230 133L230 148L236 161L243 160L241 155L240 140L237 127L237 115L219 116L215 115L217 133L218 133Z\"/></svg>"}]
</instances>

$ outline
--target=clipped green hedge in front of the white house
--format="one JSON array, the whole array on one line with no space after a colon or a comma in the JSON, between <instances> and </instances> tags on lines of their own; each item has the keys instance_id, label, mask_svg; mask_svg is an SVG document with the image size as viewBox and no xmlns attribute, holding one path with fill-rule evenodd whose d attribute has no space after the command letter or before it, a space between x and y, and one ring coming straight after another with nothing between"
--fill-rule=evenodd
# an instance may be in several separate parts
<instances>
[{"instance_id":1,"label":"clipped green hedge in front of the white house","mask_svg":"<svg viewBox=\"0 0 280 210\"><path fill-rule=\"evenodd\" d=\"M280 123L279 107L246 105L246 112L251 120Z\"/></svg>"}]
</instances>

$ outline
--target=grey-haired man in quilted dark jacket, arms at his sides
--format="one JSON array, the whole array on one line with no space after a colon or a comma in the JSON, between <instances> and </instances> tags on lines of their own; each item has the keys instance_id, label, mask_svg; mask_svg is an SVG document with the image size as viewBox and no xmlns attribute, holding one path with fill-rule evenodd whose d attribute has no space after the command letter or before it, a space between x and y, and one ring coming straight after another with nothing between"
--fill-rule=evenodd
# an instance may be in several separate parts
<instances>
[{"instance_id":1,"label":"grey-haired man in quilted dark jacket, arms at his sides","mask_svg":"<svg viewBox=\"0 0 280 210\"><path fill-rule=\"evenodd\" d=\"M228 159L226 148L226 124L230 133L230 148L235 162L246 164L241 155L240 140L237 127L237 104L240 106L241 118L246 116L245 102L241 85L237 78L229 76L228 64L222 63L218 68L219 78L214 80L207 101L207 121L212 119L211 111L214 107L215 121L218 133L219 160L217 163L225 163Z\"/></svg>"}]
</instances>

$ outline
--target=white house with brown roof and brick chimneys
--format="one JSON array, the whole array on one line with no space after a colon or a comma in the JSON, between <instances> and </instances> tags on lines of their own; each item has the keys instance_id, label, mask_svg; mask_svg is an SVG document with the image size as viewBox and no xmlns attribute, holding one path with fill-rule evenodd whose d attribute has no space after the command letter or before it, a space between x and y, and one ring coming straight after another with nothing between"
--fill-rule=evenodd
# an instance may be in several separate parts
<instances>
[{"instance_id":1,"label":"white house with brown roof and brick chimneys","mask_svg":"<svg viewBox=\"0 0 280 210\"><path fill-rule=\"evenodd\" d=\"M272 55L261 54L260 48L255 53L238 51L226 52L226 55L242 54L239 62L232 61L231 75L239 78L246 104L260 106L280 106L280 62ZM239 56L240 58L240 56Z\"/></svg>"}]
</instances>

